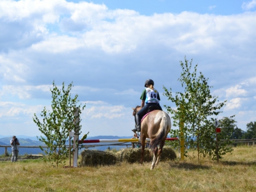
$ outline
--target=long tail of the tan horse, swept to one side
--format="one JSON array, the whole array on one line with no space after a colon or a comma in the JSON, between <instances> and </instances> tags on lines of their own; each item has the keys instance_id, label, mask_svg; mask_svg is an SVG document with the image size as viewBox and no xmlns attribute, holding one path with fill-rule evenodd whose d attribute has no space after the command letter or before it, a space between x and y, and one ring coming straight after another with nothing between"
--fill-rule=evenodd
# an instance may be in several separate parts
<instances>
[{"instance_id":1,"label":"long tail of the tan horse, swept to one side","mask_svg":"<svg viewBox=\"0 0 256 192\"><path fill-rule=\"evenodd\" d=\"M163 116L161 118L159 131L157 131L156 137L150 142L151 150L154 150L154 148L156 148L157 145L161 143L161 141L166 139L168 131L170 131L170 125L168 124L168 120L168 116Z\"/></svg>"}]
</instances>

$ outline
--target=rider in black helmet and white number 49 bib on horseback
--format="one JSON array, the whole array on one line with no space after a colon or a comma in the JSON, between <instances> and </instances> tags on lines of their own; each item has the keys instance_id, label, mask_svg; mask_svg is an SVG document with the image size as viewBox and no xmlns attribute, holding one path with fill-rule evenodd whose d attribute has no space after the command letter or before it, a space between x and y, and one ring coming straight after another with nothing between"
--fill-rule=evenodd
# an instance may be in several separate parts
<instances>
[{"instance_id":1,"label":"rider in black helmet and white number 49 bib on horseback","mask_svg":"<svg viewBox=\"0 0 256 192\"><path fill-rule=\"evenodd\" d=\"M141 109L135 115L135 127L132 129L133 132L140 131L141 118L146 115L148 108L150 106L158 106L159 110L162 111L159 105L159 93L154 88L154 81L152 79L147 79L145 82L145 90L141 94Z\"/></svg>"}]
</instances>

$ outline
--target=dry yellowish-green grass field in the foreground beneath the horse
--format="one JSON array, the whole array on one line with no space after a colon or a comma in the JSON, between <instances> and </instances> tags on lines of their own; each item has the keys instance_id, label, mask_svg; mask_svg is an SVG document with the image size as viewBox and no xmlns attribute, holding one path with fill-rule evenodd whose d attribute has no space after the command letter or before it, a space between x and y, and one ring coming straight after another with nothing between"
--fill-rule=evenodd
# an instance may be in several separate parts
<instances>
[{"instance_id":1,"label":"dry yellowish-green grass field in the foreground beneath the horse","mask_svg":"<svg viewBox=\"0 0 256 192\"><path fill-rule=\"evenodd\" d=\"M256 191L256 147L209 159L52 168L36 159L0 162L0 191Z\"/></svg>"}]
</instances>

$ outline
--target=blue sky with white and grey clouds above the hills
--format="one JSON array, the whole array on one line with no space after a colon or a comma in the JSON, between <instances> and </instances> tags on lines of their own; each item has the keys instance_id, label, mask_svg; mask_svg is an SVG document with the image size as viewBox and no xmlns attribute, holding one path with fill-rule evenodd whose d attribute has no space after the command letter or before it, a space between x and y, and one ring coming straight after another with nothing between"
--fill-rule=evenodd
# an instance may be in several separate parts
<instances>
[{"instance_id":1,"label":"blue sky with white and grey clouds above the hills","mask_svg":"<svg viewBox=\"0 0 256 192\"><path fill-rule=\"evenodd\" d=\"M86 108L82 134L132 136L147 79L182 91L180 61L198 64L218 120L256 121L256 0L0 0L0 135L40 136L33 115L51 109L52 82ZM166 109L164 109L166 111ZM173 127L177 129L177 127Z\"/></svg>"}]
</instances>

